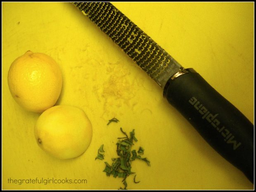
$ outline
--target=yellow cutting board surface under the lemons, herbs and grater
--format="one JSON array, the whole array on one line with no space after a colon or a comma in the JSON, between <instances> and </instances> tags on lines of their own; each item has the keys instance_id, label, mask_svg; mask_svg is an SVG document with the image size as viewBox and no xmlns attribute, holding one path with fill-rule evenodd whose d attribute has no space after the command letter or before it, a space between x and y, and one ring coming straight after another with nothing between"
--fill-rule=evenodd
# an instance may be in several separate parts
<instances>
[{"instance_id":1,"label":"yellow cutting board surface under the lemons, herbs and grater","mask_svg":"<svg viewBox=\"0 0 256 192\"><path fill-rule=\"evenodd\" d=\"M253 2L113 2L183 67L194 68L254 122ZM78 106L93 127L88 150L57 160L41 150L39 113L12 98L7 73L26 51L54 58L62 69L57 105ZM119 123L111 123L111 118ZM151 167L136 160L132 190L251 190L254 185L213 150L163 97L163 90L69 2L2 3L2 189L117 190L104 161L116 157L120 127L135 129ZM95 160L104 144L105 159ZM53 182L54 181L54 182ZM73 183L72 183L73 182ZM76 182L76 183L75 183Z\"/></svg>"}]
</instances>

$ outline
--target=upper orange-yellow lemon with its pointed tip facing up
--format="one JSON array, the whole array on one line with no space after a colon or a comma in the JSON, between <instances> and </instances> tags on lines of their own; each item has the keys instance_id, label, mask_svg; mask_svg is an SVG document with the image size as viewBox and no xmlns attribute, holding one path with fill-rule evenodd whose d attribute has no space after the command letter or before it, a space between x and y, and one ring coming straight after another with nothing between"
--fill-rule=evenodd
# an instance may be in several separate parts
<instances>
[{"instance_id":1,"label":"upper orange-yellow lemon with its pointed tip facing up","mask_svg":"<svg viewBox=\"0 0 256 192\"><path fill-rule=\"evenodd\" d=\"M18 104L28 111L41 113L57 102L62 89L62 73L50 56L27 51L12 62L8 86Z\"/></svg>"}]
</instances>

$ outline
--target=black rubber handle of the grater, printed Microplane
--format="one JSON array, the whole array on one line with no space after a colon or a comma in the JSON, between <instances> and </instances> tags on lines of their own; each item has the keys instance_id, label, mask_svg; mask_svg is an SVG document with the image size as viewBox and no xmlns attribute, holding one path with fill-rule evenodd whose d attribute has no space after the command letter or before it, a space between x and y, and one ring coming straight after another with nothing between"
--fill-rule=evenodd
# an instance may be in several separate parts
<instances>
[{"instance_id":1,"label":"black rubber handle of the grater, printed Microplane","mask_svg":"<svg viewBox=\"0 0 256 192\"><path fill-rule=\"evenodd\" d=\"M254 125L198 73L169 79L164 96L226 160L254 183Z\"/></svg>"}]
</instances>

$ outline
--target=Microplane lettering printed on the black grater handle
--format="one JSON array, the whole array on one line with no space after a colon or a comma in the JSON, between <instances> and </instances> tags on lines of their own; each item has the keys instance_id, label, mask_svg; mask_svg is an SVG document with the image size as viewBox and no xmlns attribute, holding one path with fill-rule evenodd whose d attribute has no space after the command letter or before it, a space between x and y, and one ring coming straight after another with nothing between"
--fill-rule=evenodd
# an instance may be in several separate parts
<instances>
[{"instance_id":1,"label":"Microplane lettering printed on the black grater handle","mask_svg":"<svg viewBox=\"0 0 256 192\"><path fill-rule=\"evenodd\" d=\"M206 119L223 136L227 144L233 145L233 150L236 150L241 143L234 140L235 136L225 126L220 125L220 121L216 118L218 113L213 115L208 109L201 104L195 97L191 97L189 103L202 115L202 119Z\"/></svg>"}]
</instances>

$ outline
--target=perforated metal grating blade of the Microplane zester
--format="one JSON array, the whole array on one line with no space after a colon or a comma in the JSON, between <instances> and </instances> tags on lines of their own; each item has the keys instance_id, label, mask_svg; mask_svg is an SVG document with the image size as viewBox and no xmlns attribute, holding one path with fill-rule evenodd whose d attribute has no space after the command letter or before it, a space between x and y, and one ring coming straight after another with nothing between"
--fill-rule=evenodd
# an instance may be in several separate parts
<instances>
[{"instance_id":1,"label":"perforated metal grating blade of the Microplane zester","mask_svg":"<svg viewBox=\"0 0 256 192\"><path fill-rule=\"evenodd\" d=\"M183 67L109 2L73 2L147 74L164 88Z\"/></svg>"}]
</instances>

